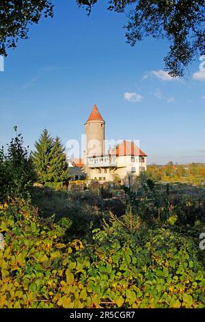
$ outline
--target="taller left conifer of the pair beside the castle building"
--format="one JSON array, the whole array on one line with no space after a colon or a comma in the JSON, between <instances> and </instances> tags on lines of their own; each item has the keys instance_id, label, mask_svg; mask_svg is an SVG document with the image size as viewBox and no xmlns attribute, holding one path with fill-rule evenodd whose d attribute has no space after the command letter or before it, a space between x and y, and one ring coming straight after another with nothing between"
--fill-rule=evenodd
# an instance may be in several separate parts
<instances>
[{"instance_id":1,"label":"taller left conifer of the pair beside the castle building","mask_svg":"<svg viewBox=\"0 0 205 322\"><path fill-rule=\"evenodd\" d=\"M51 159L53 150L53 138L49 135L47 129L44 129L40 135L40 139L36 142L36 151L32 153L33 164L36 167L38 175L38 182L44 185L50 182L51 173L49 172L51 166Z\"/></svg>"}]
</instances>

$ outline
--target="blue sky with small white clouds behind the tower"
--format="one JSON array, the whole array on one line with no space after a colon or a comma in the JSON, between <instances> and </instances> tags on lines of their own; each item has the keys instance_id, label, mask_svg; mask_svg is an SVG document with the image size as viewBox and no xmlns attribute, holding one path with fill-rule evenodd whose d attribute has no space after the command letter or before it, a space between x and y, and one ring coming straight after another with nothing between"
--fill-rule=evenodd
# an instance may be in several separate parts
<instances>
[{"instance_id":1,"label":"blue sky with small white clouds behind the tower","mask_svg":"<svg viewBox=\"0 0 205 322\"><path fill-rule=\"evenodd\" d=\"M33 25L0 73L0 145L18 126L33 149L46 127L64 144L81 140L94 104L107 139L140 140L148 163L205 162L205 72L200 60L184 79L162 70L169 46L147 38L132 48L124 14L100 1L90 17L74 0L56 0L53 19Z\"/></svg>"}]
</instances>

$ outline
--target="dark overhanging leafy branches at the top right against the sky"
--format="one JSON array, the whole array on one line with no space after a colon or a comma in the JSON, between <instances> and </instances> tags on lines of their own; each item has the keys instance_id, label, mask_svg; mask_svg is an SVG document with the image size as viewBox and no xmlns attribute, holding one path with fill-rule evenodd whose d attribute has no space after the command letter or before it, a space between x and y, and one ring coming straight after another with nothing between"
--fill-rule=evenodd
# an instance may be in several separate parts
<instances>
[{"instance_id":1,"label":"dark overhanging leafy branches at the top right against the sky","mask_svg":"<svg viewBox=\"0 0 205 322\"><path fill-rule=\"evenodd\" d=\"M89 14L98 0L77 0ZM199 54L204 54L204 0L107 0L108 10L124 12L128 5L126 39L131 46L147 36L166 38L169 53L164 58L170 75L182 76Z\"/></svg>"}]
</instances>

